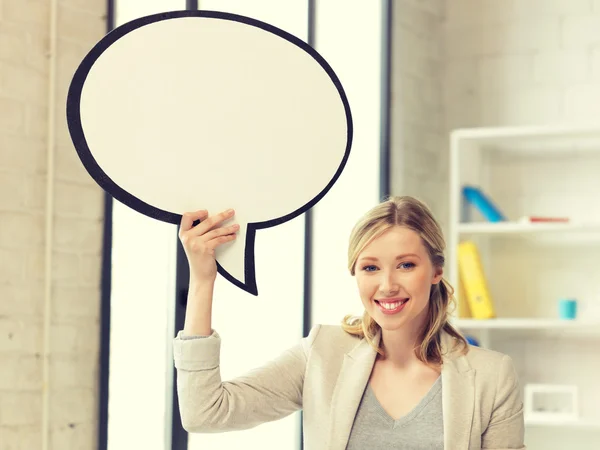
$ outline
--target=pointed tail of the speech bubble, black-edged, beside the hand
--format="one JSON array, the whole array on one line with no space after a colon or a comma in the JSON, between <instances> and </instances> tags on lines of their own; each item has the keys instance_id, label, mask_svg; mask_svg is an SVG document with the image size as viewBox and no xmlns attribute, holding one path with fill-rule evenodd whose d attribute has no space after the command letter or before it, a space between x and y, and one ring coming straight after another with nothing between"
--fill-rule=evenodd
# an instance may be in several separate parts
<instances>
[{"instance_id":1,"label":"pointed tail of the speech bubble, black-edged, beside the hand","mask_svg":"<svg viewBox=\"0 0 600 450\"><path fill-rule=\"evenodd\" d=\"M254 258L255 236L256 230L251 226L240 227L239 242L235 242L217 256L217 270L230 283L249 294L257 296L258 286L256 285Z\"/></svg>"}]
</instances>

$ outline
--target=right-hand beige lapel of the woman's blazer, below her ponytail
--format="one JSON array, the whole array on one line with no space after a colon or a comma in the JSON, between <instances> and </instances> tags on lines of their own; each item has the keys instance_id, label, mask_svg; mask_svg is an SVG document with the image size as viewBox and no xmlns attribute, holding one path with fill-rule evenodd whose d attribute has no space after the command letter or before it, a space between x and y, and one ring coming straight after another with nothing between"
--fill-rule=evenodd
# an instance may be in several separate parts
<instances>
[{"instance_id":1,"label":"right-hand beige lapel of the woman's blazer, below her ponytail","mask_svg":"<svg viewBox=\"0 0 600 450\"><path fill-rule=\"evenodd\" d=\"M475 407L475 371L462 354L449 351L452 338L444 333L442 409L444 448L468 450Z\"/></svg>"}]
</instances>

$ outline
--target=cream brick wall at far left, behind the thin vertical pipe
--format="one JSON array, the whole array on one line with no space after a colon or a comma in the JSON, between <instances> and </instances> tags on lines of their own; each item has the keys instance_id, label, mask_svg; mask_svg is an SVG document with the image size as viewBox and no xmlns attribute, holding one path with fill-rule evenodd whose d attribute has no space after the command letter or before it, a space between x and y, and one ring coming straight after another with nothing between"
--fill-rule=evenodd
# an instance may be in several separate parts
<instances>
[{"instance_id":1,"label":"cream brick wall at far left, behind the thin vertical pipe","mask_svg":"<svg viewBox=\"0 0 600 450\"><path fill-rule=\"evenodd\" d=\"M102 192L64 119L104 0L58 2L55 170L47 170L50 1L0 0L0 449L96 447ZM46 180L52 223L50 430L42 435Z\"/></svg>"}]
</instances>

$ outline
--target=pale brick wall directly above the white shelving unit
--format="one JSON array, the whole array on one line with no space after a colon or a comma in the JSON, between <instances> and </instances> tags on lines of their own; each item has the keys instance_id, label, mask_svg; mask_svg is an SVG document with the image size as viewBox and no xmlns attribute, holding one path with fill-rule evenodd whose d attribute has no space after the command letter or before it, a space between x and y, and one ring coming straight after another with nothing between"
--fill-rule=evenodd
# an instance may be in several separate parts
<instances>
[{"instance_id":1,"label":"pale brick wall directly above the white shelving unit","mask_svg":"<svg viewBox=\"0 0 600 450\"><path fill-rule=\"evenodd\" d=\"M446 131L600 112L597 1L448 0L446 11Z\"/></svg>"}]
</instances>

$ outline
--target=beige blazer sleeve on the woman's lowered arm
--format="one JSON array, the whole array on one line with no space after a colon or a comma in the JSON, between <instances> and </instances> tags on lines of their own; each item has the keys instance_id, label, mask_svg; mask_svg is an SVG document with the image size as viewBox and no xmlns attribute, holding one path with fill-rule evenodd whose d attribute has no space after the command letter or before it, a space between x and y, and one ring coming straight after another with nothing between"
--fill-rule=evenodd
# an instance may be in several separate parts
<instances>
[{"instance_id":1,"label":"beige blazer sleeve on the woman's lowered arm","mask_svg":"<svg viewBox=\"0 0 600 450\"><path fill-rule=\"evenodd\" d=\"M498 374L492 417L481 436L481 448L524 450L525 424L519 379L512 359L504 355Z\"/></svg>"}]
</instances>

